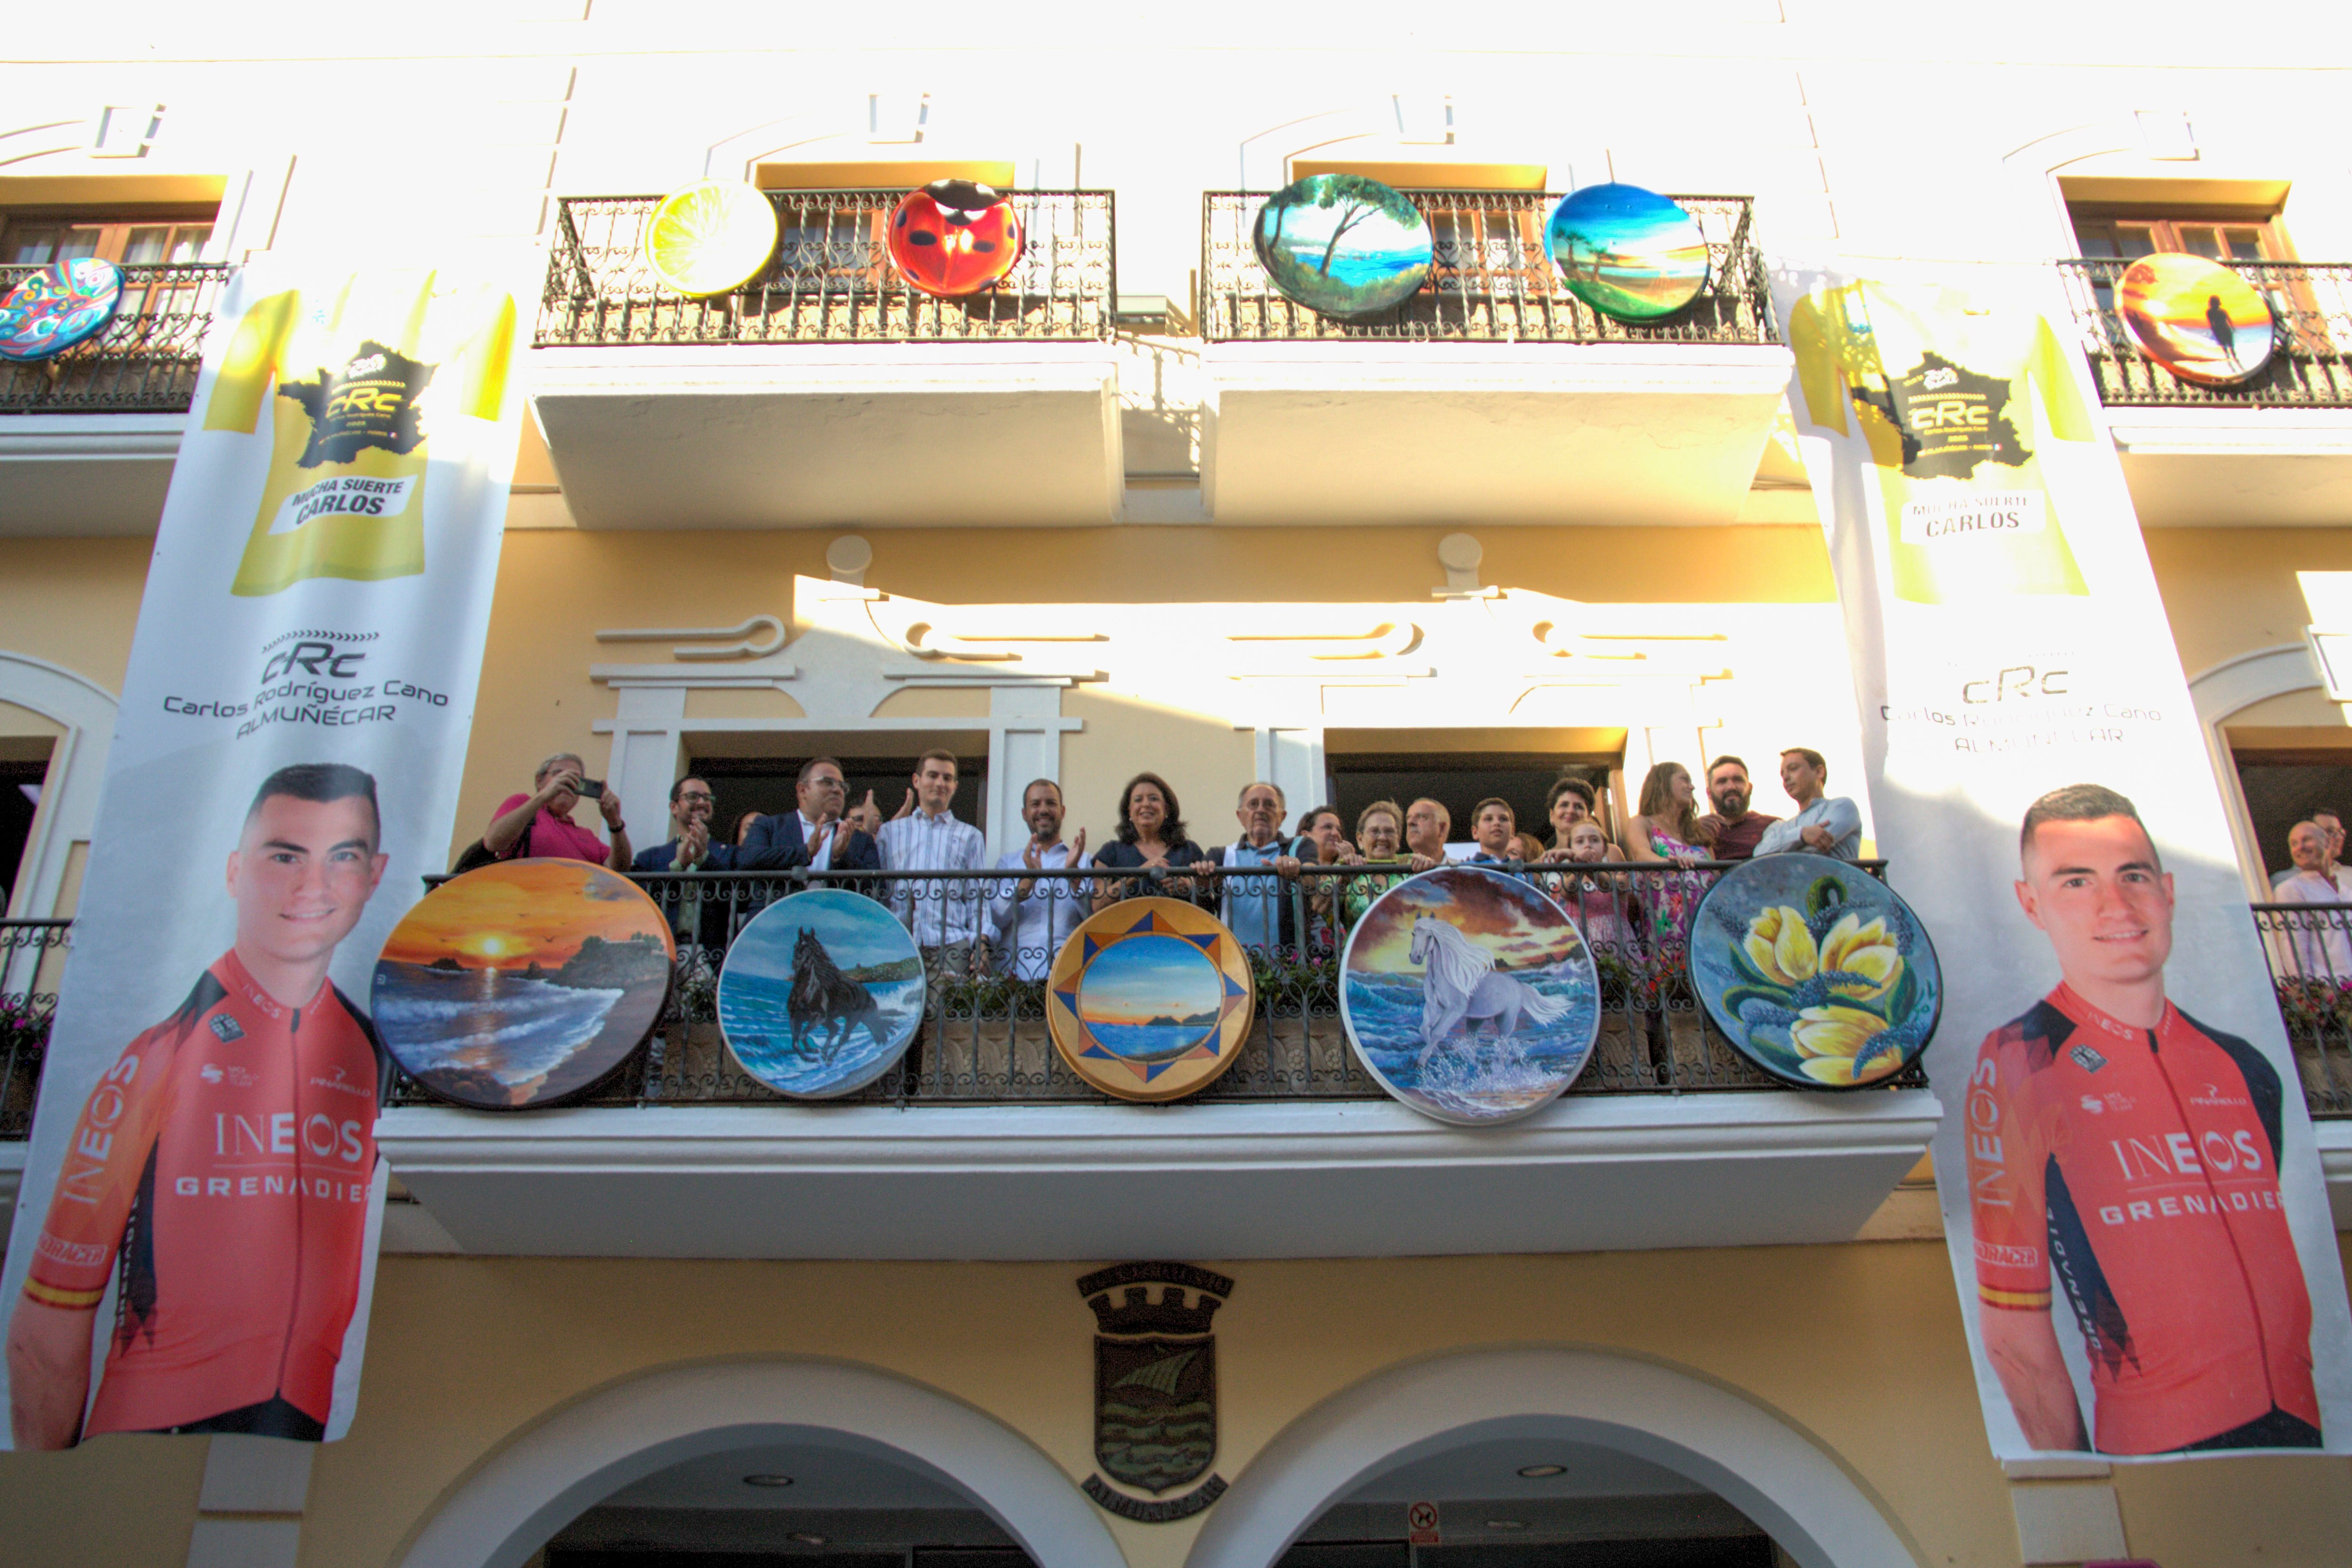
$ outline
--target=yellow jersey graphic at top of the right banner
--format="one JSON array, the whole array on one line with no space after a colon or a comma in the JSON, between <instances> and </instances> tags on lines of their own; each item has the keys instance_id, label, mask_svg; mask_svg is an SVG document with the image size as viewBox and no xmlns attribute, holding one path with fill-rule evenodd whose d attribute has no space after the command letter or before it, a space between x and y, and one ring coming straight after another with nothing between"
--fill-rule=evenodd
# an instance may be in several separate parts
<instances>
[{"instance_id":1,"label":"yellow jersey graphic at top of the right banner","mask_svg":"<svg viewBox=\"0 0 2352 1568\"><path fill-rule=\"evenodd\" d=\"M2039 315L1971 308L1955 289L1856 282L1790 313L1806 416L1860 430L1886 501L1893 590L1915 604L2086 595L2027 444L2091 440L2058 334Z\"/></svg>"}]
</instances>

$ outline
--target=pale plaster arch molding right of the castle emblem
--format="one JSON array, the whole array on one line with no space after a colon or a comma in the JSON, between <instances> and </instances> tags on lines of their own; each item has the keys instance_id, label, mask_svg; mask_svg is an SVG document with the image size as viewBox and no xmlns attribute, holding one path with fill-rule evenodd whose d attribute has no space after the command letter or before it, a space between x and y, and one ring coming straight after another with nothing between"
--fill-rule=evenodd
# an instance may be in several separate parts
<instances>
[{"instance_id":1,"label":"pale plaster arch molding right of the castle emblem","mask_svg":"<svg viewBox=\"0 0 2352 1568\"><path fill-rule=\"evenodd\" d=\"M1482 1349L1376 1373L1301 1415L1235 1476L1185 1568L1272 1568L1371 1476L1498 1439L1599 1443L1663 1465L1804 1568L1922 1563L1835 1455L1719 1382L1592 1349Z\"/></svg>"}]
</instances>

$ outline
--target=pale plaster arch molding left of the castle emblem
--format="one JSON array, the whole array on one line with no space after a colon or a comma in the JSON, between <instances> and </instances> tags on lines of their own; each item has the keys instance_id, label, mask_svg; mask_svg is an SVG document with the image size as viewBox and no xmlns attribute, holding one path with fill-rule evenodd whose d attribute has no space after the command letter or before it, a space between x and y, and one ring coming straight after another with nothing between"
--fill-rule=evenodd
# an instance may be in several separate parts
<instances>
[{"instance_id":1,"label":"pale plaster arch molding left of the castle emblem","mask_svg":"<svg viewBox=\"0 0 2352 1568\"><path fill-rule=\"evenodd\" d=\"M971 1497L1040 1568L1127 1568L1094 1505L1033 1441L903 1378L818 1361L673 1366L576 1399L452 1486L400 1566L522 1568L630 1481L788 1441L884 1450Z\"/></svg>"}]
</instances>

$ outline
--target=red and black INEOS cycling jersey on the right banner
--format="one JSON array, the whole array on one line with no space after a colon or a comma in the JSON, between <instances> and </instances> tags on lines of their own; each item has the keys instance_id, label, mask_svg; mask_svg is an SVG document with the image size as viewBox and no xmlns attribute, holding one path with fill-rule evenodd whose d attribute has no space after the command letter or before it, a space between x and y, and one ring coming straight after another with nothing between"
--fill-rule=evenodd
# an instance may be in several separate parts
<instances>
[{"instance_id":1,"label":"red and black INEOS cycling jersey on the right banner","mask_svg":"<svg viewBox=\"0 0 2352 1568\"><path fill-rule=\"evenodd\" d=\"M2060 985L1969 1079L1985 1312L2065 1286L2093 1443L2166 1453L2284 1410L2319 1425L2312 1300L2279 1197L2279 1072L2166 1004L2136 1030Z\"/></svg>"}]
</instances>

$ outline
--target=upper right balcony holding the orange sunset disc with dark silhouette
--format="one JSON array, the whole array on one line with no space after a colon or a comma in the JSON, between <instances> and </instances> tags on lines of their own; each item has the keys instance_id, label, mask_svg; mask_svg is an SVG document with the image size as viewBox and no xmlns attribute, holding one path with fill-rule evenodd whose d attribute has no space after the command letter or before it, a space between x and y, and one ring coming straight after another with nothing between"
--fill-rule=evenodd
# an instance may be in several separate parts
<instances>
[{"instance_id":1,"label":"upper right balcony holding the orange sunset disc with dark silhouette","mask_svg":"<svg viewBox=\"0 0 2352 1568\"><path fill-rule=\"evenodd\" d=\"M2336 527L2352 515L2352 263L2223 261L2270 301L2270 364L2199 386L2140 353L2114 308L2131 259L2058 263L2145 527Z\"/></svg>"}]
</instances>

